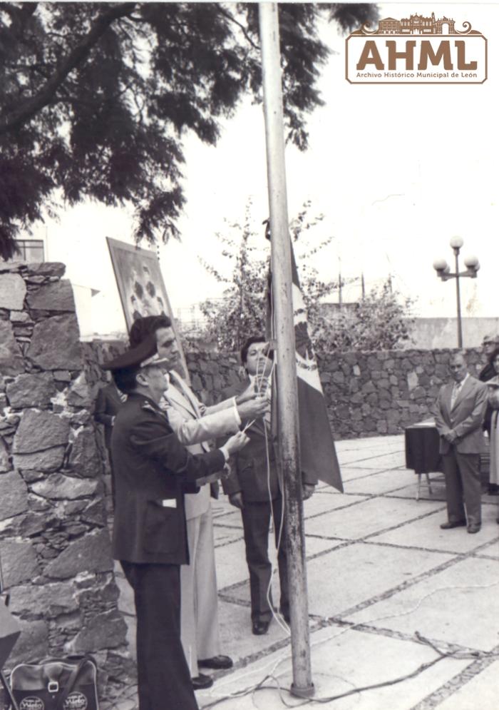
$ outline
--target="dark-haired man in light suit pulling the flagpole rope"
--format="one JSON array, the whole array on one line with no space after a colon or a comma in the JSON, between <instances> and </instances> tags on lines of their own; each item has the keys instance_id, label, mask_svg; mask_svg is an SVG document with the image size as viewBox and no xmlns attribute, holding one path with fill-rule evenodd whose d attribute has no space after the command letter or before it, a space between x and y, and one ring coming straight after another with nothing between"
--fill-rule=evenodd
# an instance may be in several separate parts
<instances>
[{"instance_id":1,"label":"dark-haired man in light suit pulling the flagpole rope","mask_svg":"<svg viewBox=\"0 0 499 710\"><path fill-rule=\"evenodd\" d=\"M179 350L170 319L148 316L135 320L130 330L130 345L136 345L151 334L155 335L159 355L167 361L165 369L170 378L161 406L175 434L191 453L209 451L210 440L239 431L243 420L262 417L267 410L267 402L263 397L255 397L252 390L205 407L174 370L178 366ZM217 483L210 486L208 479L197 495L185 496L190 564L180 569L181 628L182 645L195 689L208 688L213 682L210 676L200 673L199 668L232 666L232 660L220 652L210 490L217 497Z\"/></svg>"}]
</instances>

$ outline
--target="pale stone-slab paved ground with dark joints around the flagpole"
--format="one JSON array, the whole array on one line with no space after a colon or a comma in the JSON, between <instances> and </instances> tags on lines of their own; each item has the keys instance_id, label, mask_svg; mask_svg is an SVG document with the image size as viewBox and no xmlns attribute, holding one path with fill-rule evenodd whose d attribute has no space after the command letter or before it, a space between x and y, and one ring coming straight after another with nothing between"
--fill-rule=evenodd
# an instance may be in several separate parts
<instances>
[{"instance_id":1,"label":"pale stone-slab paved ground with dark joints around the flagpole","mask_svg":"<svg viewBox=\"0 0 499 710\"><path fill-rule=\"evenodd\" d=\"M315 697L386 682L324 704L336 710L497 710L498 499L483 496L480 533L443 531L443 482L432 484L431 495L423 486L416 502L403 437L338 442L337 450L344 495L323 486L305 502ZM223 651L235 666L218 673L210 691L197 693L200 708L215 701L227 710L317 706L287 692L287 630L273 622L267 636L251 634L240 514L225 501L215 504L215 539ZM125 584L122 606L130 612ZM133 616L128 619L133 634ZM441 658L436 649L454 656ZM268 675L274 688L234 696ZM135 689L113 710L135 710Z\"/></svg>"}]
</instances>

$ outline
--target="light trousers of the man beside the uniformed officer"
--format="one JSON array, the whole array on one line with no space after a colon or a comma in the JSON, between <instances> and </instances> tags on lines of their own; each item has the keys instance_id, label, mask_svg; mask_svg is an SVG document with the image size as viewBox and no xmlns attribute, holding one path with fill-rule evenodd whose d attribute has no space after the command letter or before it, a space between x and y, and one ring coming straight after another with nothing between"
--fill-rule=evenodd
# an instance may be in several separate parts
<instances>
[{"instance_id":1,"label":"light trousers of the man beside the uniformed officer","mask_svg":"<svg viewBox=\"0 0 499 710\"><path fill-rule=\"evenodd\" d=\"M199 674L197 659L220 654L217 574L212 507L187 520L190 564L180 567L182 646L190 674Z\"/></svg>"}]
</instances>

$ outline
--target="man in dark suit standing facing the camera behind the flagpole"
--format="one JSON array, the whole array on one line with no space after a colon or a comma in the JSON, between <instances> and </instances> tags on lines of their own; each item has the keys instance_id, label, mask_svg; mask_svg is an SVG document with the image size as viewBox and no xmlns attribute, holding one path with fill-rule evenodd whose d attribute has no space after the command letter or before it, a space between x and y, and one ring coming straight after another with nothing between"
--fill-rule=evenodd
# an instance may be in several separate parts
<instances>
[{"instance_id":1,"label":"man in dark suit standing facing the camera behind the flagpole","mask_svg":"<svg viewBox=\"0 0 499 710\"><path fill-rule=\"evenodd\" d=\"M237 396L253 385L260 395L270 397L269 377L272 359L264 338L249 338L241 350L241 362L247 378L223 392L224 397ZM272 566L269 562L269 523L274 521L274 536L281 587L280 611L289 622L287 556L283 519L282 482L269 427L269 417L254 420L247 429L249 443L231 459L230 476L222 481L232 505L240 508L245 531L246 561L249 569L251 619L253 634L266 634L272 620L272 595L269 593ZM314 492L317 479L303 480L303 497ZM269 603L270 602L270 603Z\"/></svg>"}]
</instances>

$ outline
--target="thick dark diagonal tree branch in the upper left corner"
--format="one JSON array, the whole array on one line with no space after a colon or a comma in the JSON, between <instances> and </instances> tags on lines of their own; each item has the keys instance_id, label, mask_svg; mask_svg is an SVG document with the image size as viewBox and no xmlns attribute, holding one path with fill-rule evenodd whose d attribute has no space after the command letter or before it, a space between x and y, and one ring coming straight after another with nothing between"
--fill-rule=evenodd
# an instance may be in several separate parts
<instances>
[{"instance_id":1,"label":"thick dark diagonal tree branch in the upper left corner","mask_svg":"<svg viewBox=\"0 0 499 710\"><path fill-rule=\"evenodd\" d=\"M22 126L23 123L29 121L35 113L41 111L44 106L47 106L56 95L58 88L68 74L73 71L78 64L81 64L81 61L86 59L109 26L120 17L130 15L135 9L135 5L135 3L120 3L119 5L110 6L109 9L103 11L93 23L88 34L81 42L73 47L68 56L61 61L56 72L43 84L40 91L38 91L35 96L31 96L27 101L24 101L19 108L11 111L11 113L7 113L5 116L0 116L0 136L9 133L9 131L16 130L16 128Z\"/></svg>"}]
</instances>

